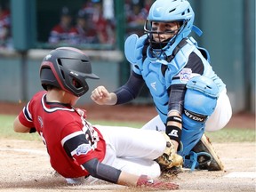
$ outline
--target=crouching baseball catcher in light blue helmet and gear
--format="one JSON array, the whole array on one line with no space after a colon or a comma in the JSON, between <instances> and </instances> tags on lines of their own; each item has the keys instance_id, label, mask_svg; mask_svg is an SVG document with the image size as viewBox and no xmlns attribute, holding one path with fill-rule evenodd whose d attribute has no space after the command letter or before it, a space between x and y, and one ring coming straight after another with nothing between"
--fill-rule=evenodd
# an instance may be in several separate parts
<instances>
[{"instance_id":1,"label":"crouching baseball catcher in light blue helmet and gear","mask_svg":"<svg viewBox=\"0 0 256 192\"><path fill-rule=\"evenodd\" d=\"M128 81L114 92L101 85L91 98L99 105L123 104L134 100L146 84L158 116L142 129L165 132L175 153L182 156L183 167L220 171L223 165L204 132L228 124L232 108L209 52L189 36L192 31L202 35L194 19L187 0L155 1L144 25L145 35L132 34L125 41L125 57L132 66Z\"/></svg>"}]
</instances>

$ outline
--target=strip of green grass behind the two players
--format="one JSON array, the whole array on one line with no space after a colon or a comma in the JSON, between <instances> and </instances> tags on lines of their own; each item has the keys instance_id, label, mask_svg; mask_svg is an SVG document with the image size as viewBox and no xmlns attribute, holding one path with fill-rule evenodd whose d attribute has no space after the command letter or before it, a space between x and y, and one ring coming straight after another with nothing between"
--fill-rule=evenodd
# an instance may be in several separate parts
<instances>
[{"instance_id":1,"label":"strip of green grass behind the two players","mask_svg":"<svg viewBox=\"0 0 256 192\"><path fill-rule=\"evenodd\" d=\"M0 138L18 139L18 140L40 140L38 134L17 133L12 129L12 123L15 116L0 115ZM140 128L142 123L131 122L113 122L113 121L90 121L92 124L131 126ZM206 132L212 142L255 142L255 130L244 129L243 127L228 127L218 132Z\"/></svg>"}]
</instances>

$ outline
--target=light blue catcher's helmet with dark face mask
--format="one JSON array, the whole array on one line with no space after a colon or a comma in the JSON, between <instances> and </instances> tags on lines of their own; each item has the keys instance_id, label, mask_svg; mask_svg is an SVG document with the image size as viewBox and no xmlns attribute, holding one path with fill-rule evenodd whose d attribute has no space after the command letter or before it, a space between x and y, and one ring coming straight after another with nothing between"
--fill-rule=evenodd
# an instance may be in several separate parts
<instances>
[{"instance_id":1,"label":"light blue catcher's helmet with dark face mask","mask_svg":"<svg viewBox=\"0 0 256 192\"><path fill-rule=\"evenodd\" d=\"M148 12L148 18L144 25L145 33L148 34L151 51L164 53L173 45L173 49L180 41L187 37L193 29L195 13L187 0L157 0ZM152 28L152 22L174 22L181 23L177 34L166 42L157 43L152 38L152 34L159 34ZM173 34L173 31L161 32L164 34ZM172 52L171 52L172 53ZM166 54L166 52L165 52ZM167 54L168 55L168 54Z\"/></svg>"}]
</instances>

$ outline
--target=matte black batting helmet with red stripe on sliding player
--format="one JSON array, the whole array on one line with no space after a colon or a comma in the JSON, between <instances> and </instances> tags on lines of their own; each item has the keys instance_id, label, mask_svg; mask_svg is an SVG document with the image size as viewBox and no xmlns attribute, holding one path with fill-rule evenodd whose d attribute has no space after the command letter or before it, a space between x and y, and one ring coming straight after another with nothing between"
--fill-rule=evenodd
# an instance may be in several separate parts
<instances>
[{"instance_id":1,"label":"matte black batting helmet with red stripe on sliding player","mask_svg":"<svg viewBox=\"0 0 256 192\"><path fill-rule=\"evenodd\" d=\"M77 97L89 90L86 78L99 79L92 73L89 58L72 47L60 47L44 57L40 67L43 88L52 85Z\"/></svg>"}]
</instances>

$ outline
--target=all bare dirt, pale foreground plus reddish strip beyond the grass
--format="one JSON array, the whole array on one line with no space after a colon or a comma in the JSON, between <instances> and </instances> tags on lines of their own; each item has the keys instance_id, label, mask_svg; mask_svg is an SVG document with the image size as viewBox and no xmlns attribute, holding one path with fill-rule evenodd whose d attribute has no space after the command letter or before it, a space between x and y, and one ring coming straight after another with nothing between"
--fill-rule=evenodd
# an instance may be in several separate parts
<instances>
[{"instance_id":1,"label":"all bare dirt, pale foreground plus reddish strip beyond the grass","mask_svg":"<svg viewBox=\"0 0 256 192\"><path fill-rule=\"evenodd\" d=\"M24 104L0 103L0 114L17 115ZM89 119L147 122L156 116L152 106L84 106ZM255 116L236 114L227 127L255 128ZM181 192L256 191L255 143L212 143L225 165L224 172L181 172L171 181ZM49 157L41 140L0 140L0 191L138 191L111 184L68 186L52 174ZM145 190L144 190L145 191Z\"/></svg>"}]
</instances>

